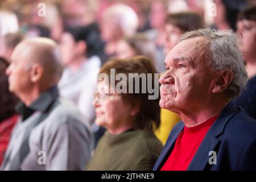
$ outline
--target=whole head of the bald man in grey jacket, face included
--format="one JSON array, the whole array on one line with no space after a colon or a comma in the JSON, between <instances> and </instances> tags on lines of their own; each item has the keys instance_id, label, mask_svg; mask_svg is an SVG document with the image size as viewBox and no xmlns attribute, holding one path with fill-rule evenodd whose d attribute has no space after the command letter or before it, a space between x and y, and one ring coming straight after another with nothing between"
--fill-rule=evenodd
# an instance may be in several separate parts
<instances>
[{"instance_id":1,"label":"whole head of the bald man in grey jacket, face included","mask_svg":"<svg viewBox=\"0 0 256 182\"><path fill-rule=\"evenodd\" d=\"M11 55L9 90L18 97L44 92L59 82L63 66L57 44L47 38L23 40Z\"/></svg>"}]
</instances>

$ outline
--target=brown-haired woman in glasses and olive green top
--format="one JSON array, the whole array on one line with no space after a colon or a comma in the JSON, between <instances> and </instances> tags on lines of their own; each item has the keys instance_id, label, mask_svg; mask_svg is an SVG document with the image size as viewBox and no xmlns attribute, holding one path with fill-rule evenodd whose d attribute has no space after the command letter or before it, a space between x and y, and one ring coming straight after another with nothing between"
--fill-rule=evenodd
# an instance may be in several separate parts
<instances>
[{"instance_id":1,"label":"brown-haired woman in glasses and olive green top","mask_svg":"<svg viewBox=\"0 0 256 182\"><path fill-rule=\"evenodd\" d=\"M146 74L146 79L139 79L139 93L135 90L138 84L129 79L122 80L129 92L109 92L117 88L119 82L111 83L108 78L116 74L129 76L129 73ZM152 74L153 73L153 74ZM99 76L108 75L98 81L94 98L96 107L96 123L106 127L106 133L100 139L96 151L86 169L88 170L151 170L158 158L162 144L156 139L152 129L159 126L159 99L149 100L148 92L143 93L143 83L148 81L147 75L156 73L154 66L146 57L137 56L123 60L112 60L106 63ZM133 80L136 78L133 78ZM143 81L143 82L142 82ZM125 87L125 86L124 86ZM131 89L132 87L132 89ZM126 91L127 91L126 90Z\"/></svg>"}]
</instances>

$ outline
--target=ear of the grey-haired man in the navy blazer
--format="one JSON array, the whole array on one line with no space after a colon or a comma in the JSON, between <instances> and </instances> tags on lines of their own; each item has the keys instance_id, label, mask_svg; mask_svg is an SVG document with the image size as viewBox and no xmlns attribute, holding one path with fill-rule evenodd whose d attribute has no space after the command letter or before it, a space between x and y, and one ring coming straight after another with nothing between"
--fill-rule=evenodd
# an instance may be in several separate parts
<instances>
[{"instance_id":1,"label":"ear of the grey-haired man in the navy blazer","mask_svg":"<svg viewBox=\"0 0 256 182\"><path fill-rule=\"evenodd\" d=\"M216 77L216 82L213 86L213 93L221 93L224 92L226 88L228 88L230 82L233 80L234 74L230 70L222 70L219 71Z\"/></svg>"}]
</instances>

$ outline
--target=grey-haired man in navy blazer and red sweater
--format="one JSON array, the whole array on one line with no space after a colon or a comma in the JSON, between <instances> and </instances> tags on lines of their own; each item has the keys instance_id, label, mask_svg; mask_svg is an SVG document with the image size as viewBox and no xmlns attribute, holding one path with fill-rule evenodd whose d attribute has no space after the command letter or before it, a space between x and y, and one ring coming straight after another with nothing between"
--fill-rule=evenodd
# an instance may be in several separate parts
<instances>
[{"instance_id":1,"label":"grey-haired man in navy blazer and red sweater","mask_svg":"<svg viewBox=\"0 0 256 182\"><path fill-rule=\"evenodd\" d=\"M247 81L237 38L231 31L191 31L168 53L160 106L182 121L154 170L256 169L256 122L232 101Z\"/></svg>"}]
</instances>

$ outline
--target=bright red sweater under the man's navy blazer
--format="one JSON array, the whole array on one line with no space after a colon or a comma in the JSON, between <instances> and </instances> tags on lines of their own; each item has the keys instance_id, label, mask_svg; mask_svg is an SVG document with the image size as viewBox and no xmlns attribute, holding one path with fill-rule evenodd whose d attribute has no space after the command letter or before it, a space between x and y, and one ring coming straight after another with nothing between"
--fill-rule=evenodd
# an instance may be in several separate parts
<instances>
[{"instance_id":1,"label":"bright red sweater under the man's navy blazer","mask_svg":"<svg viewBox=\"0 0 256 182\"><path fill-rule=\"evenodd\" d=\"M174 150L172 150L161 171L187 170L207 131L217 118L217 116L210 118L194 127L184 127L184 130L177 137Z\"/></svg>"}]
</instances>

